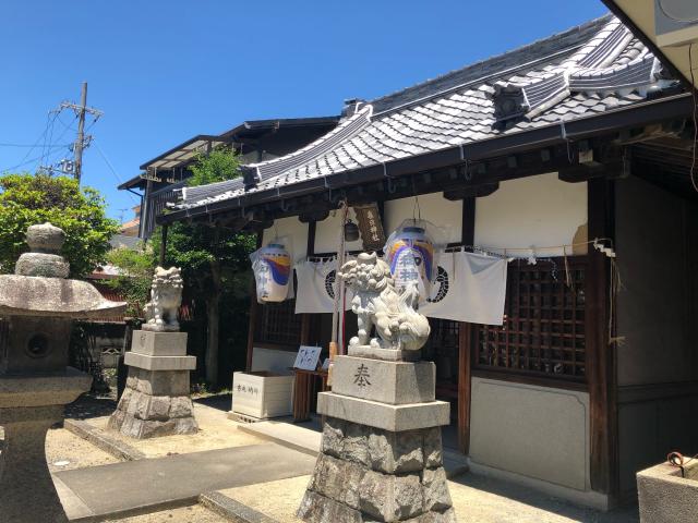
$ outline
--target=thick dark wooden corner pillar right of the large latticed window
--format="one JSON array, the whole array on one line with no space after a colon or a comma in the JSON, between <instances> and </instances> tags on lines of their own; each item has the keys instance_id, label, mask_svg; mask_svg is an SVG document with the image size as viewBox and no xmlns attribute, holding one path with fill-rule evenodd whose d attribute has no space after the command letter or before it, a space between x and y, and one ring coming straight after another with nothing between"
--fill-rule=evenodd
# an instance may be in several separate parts
<instances>
[{"instance_id":1,"label":"thick dark wooden corner pillar right of the large latticed window","mask_svg":"<svg viewBox=\"0 0 698 523\"><path fill-rule=\"evenodd\" d=\"M613 182L588 181L589 240L613 236ZM589 247L586 275L586 345L589 386L591 488L618 490L615 346L609 343L609 258Z\"/></svg>"}]
</instances>

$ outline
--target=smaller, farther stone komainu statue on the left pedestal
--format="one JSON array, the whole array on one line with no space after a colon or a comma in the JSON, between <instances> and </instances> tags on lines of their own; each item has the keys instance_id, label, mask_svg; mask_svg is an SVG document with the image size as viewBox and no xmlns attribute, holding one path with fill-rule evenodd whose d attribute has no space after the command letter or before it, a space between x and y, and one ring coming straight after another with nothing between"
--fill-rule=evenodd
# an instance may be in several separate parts
<instances>
[{"instance_id":1,"label":"smaller, farther stone komainu statue on the left pedestal","mask_svg":"<svg viewBox=\"0 0 698 523\"><path fill-rule=\"evenodd\" d=\"M151 301L145 305L143 330L179 330L177 313L182 303L184 287L181 271L177 267L157 267L151 285Z\"/></svg>"}]
</instances>

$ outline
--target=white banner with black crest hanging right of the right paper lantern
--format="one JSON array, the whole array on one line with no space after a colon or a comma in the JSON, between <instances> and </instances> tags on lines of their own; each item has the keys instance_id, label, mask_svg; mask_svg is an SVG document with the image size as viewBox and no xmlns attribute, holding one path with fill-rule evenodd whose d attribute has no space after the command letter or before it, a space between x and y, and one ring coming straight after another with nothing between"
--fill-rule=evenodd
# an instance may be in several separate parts
<instances>
[{"instance_id":1,"label":"white banner with black crest hanging right of the right paper lantern","mask_svg":"<svg viewBox=\"0 0 698 523\"><path fill-rule=\"evenodd\" d=\"M507 260L473 253L442 253L428 303L419 312L431 318L502 325Z\"/></svg>"}]
</instances>

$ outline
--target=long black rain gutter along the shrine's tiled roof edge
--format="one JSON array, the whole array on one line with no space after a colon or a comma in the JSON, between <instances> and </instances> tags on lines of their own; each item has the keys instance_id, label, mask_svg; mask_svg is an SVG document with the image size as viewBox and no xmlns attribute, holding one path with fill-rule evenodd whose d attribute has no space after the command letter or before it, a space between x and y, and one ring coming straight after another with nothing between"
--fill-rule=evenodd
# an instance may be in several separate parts
<instances>
[{"instance_id":1,"label":"long black rain gutter along the shrine's tiled roof edge","mask_svg":"<svg viewBox=\"0 0 698 523\"><path fill-rule=\"evenodd\" d=\"M550 147L621 129L646 125L648 123L675 118L685 118L690 115L691 110L691 95L684 93L647 101L641 105L605 111L601 114L582 117L570 121L561 121L530 131L521 131L440 149L433 153L425 153L385 163L330 174L326 178L318 177L292 185L251 192L230 199L160 215L156 218L156 221L163 224L171 223L203 215L213 215L238 208L249 208L255 205L278 202L284 198L311 193L322 193L328 190L335 191L364 183L380 182L386 178L399 178L416 172L452 167L465 161L506 156L535 147Z\"/></svg>"}]
</instances>

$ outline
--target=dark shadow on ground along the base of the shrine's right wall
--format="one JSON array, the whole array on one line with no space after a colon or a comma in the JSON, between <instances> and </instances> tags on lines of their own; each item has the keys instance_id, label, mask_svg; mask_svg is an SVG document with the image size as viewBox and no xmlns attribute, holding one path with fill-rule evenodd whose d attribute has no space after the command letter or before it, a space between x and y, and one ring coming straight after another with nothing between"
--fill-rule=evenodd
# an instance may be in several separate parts
<instances>
[{"instance_id":1,"label":"dark shadow on ground along the base of the shrine's right wall","mask_svg":"<svg viewBox=\"0 0 698 523\"><path fill-rule=\"evenodd\" d=\"M518 503L551 512L561 518L567 518L568 520L579 523L638 523L640 521L637 506L628 506L610 512L601 512L568 503L521 485L482 475L464 474L452 481L459 485L485 492L485 495L489 494L502 498L502 509L512 511L512 514L502 514L502 521L517 521L516 513L520 509L524 509ZM505 502L505 500L517 501L518 503ZM507 519L507 516L512 516L513 519Z\"/></svg>"}]
</instances>

